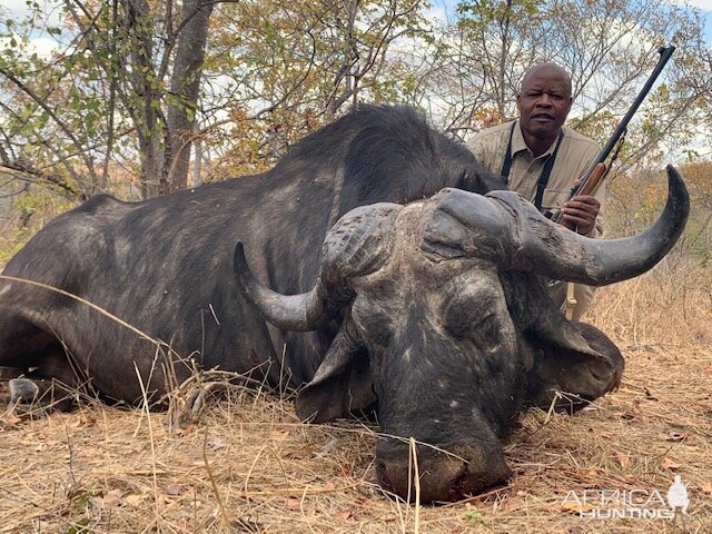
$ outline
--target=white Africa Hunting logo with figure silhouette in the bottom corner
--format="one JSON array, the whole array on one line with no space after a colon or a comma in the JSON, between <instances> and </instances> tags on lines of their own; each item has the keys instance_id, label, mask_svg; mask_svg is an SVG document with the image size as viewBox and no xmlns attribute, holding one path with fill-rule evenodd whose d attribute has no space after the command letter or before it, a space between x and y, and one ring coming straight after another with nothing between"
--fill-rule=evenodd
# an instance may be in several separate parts
<instances>
[{"instance_id":1,"label":"white Africa Hunting logo with figure silhouette in the bottom corner","mask_svg":"<svg viewBox=\"0 0 712 534\"><path fill-rule=\"evenodd\" d=\"M689 485L675 475L665 496L657 490L570 491L562 504L575 510L580 517L595 520L674 520L676 515L690 516Z\"/></svg>"}]
</instances>

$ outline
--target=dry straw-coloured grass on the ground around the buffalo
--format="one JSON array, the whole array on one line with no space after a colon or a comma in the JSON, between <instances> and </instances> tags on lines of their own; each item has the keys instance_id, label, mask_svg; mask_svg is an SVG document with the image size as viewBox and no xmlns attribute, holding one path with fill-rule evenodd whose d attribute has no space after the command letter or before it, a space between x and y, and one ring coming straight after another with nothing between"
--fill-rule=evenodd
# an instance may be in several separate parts
<instances>
[{"instance_id":1,"label":"dry straw-coloured grass on the ground around the buffalo","mask_svg":"<svg viewBox=\"0 0 712 534\"><path fill-rule=\"evenodd\" d=\"M591 320L624 349L621 389L573 417L524 414L506 445L514 477L484 496L389 498L376 485L375 427L303 425L289 402L229 387L174 431L166 413L93 402L6 413L0 532L712 532L712 285L709 273L681 276L657 269L600 293ZM584 490L664 497L675 474L690 483L684 521L586 518L566 500Z\"/></svg>"}]
</instances>

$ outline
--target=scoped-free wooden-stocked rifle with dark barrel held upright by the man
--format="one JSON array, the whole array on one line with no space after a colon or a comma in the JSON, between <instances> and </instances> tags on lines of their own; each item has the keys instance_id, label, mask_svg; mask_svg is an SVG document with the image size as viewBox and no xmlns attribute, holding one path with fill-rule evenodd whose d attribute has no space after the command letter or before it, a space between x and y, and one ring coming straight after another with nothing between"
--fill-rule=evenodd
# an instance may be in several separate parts
<instances>
[{"instance_id":1,"label":"scoped-free wooden-stocked rifle with dark barrel held upright by the man","mask_svg":"<svg viewBox=\"0 0 712 534\"><path fill-rule=\"evenodd\" d=\"M645 85L643 86L643 89L641 89L641 92L637 95L637 97L635 97L635 100L633 101L631 108L627 110L625 116L621 119L621 122L615 128L615 131L613 131L613 135L609 139L609 142L605 144L605 147L601 149L596 158L591 162L591 165L589 166L589 168L586 168L584 174L581 175L581 178L578 179L576 185L571 189L571 194L568 196L570 200L578 195L591 195L595 190L595 188L599 187L599 184L601 182L601 180L603 180L603 178L605 177L610 168L610 165L606 166L605 160L609 158L613 148L616 145L619 145L619 141L623 138L623 136L625 136L625 131L627 130L629 122L635 115L635 111L637 111L637 108L640 107L640 105L643 103L643 100L650 92L651 87L653 87L653 83L655 82L655 80L657 79L662 70L665 68L668 60L670 59L670 57L672 56L672 52L674 51L675 51L675 47L672 47L672 46L660 47L657 49L657 52L660 53L660 59L657 60L657 65L655 66L655 69L647 78L647 81L645 81ZM613 159L615 159L615 156L613 157ZM558 211L556 215L552 217L552 220L554 222L561 222L562 217L563 217L563 214Z\"/></svg>"}]
</instances>

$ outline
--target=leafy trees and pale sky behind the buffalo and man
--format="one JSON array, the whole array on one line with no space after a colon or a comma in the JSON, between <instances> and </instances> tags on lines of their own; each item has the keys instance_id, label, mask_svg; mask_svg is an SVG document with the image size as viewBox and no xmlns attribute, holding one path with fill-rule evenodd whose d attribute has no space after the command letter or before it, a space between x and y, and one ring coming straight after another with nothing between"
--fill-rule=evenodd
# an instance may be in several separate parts
<instances>
[{"instance_id":1,"label":"leafy trees and pale sky behind the buffalo and man","mask_svg":"<svg viewBox=\"0 0 712 534\"><path fill-rule=\"evenodd\" d=\"M29 2L0 17L0 184L12 185L0 188L43 184L72 202L185 187L189 165L196 185L259 172L359 101L414 105L466 138L512 117L525 69L545 59L572 73L570 125L603 142L669 42L615 172L709 151L712 51L698 12L653 0L435 12L425 0Z\"/></svg>"}]
</instances>

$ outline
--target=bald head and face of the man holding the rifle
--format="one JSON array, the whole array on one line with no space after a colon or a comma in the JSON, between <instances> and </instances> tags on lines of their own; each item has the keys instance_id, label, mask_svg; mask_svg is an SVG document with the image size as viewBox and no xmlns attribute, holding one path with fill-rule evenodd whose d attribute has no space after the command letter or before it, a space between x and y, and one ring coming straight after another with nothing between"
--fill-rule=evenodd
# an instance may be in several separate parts
<instances>
[{"instance_id":1,"label":"bald head and face of the man holding the rifle","mask_svg":"<svg viewBox=\"0 0 712 534\"><path fill-rule=\"evenodd\" d=\"M571 110L571 81L553 65L534 67L524 77L516 98L522 131L541 140L553 140Z\"/></svg>"}]
</instances>

